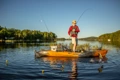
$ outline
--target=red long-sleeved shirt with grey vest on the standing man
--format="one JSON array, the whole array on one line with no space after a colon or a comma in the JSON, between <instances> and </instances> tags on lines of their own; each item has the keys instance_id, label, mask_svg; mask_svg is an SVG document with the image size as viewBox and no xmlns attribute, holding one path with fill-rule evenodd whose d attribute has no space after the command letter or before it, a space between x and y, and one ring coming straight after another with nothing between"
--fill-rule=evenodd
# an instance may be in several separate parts
<instances>
[{"instance_id":1,"label":"red long-sleeved shirt with grey vest on the standing man","mask_svg":"<svg viewBox=\"0 0 120 80\"><path fill-rule=\"evenodd\" d=\"M79 27L77 25L69 27L68 34L71 37L76 37L77 38L78 32L80 32L80 29L79 29Z\"/></svg>"}]
</instances>

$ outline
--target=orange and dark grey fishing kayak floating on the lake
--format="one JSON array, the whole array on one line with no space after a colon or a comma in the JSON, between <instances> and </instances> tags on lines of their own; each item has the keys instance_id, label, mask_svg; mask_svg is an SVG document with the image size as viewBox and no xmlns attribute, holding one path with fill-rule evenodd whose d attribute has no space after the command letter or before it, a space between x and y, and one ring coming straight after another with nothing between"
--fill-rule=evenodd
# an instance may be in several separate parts
<instances>
[{"instance_id":1,"label":"orange and dark grey fishing kayak floating on the lake","mask_svg":"<svg viewBox=\"0 0 120 80\"><path fill-rule=\"evenodd\" d=\"M95 50L85 52L70 52L70 51L51 51L51 50L35 50L35 57L104 57L108 50Z\"/></svg>"}]
</instances>

